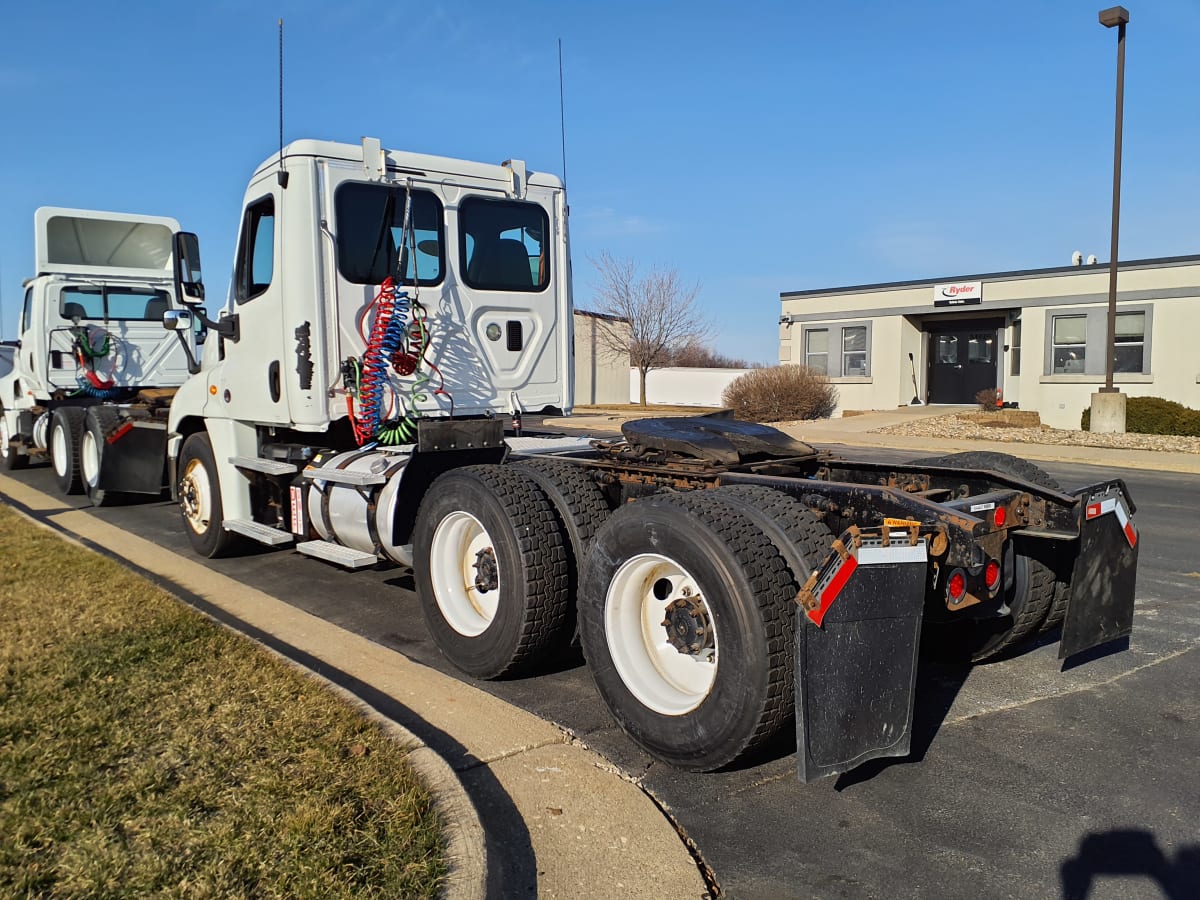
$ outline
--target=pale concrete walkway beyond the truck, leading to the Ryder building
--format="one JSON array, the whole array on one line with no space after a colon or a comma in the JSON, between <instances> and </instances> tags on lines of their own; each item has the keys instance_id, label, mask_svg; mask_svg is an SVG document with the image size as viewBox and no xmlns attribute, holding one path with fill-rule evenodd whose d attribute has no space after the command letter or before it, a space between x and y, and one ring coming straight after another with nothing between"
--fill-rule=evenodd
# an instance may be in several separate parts
<instances>
[{"instance_id":1,"label":"pale concrete walkway beyond the truck, leading to the Ryder building","mask_svg":"<svg viewBox=\"0 0 1200 900\"><path fill-rule=\"evenodd\" d=\"M1200 454L1168 452L1160 450L1124 450L1097 446L1073 446L1069 444L1034 444L1013 440L976 440L967 438L930 438L907 434L876 434L874 430L906 421L928 419L937 415L952 415L956 412L970 412L978 407L900 407L889 410L875 410L844 419L817 419L803 422L785 422L776 425L780 431L794 438L817 445L841 445L844 448L877 448L888 450L911 450L918 454L952 454L965 450L992 450L1020 456L1026 460L1044 462L1067 462L1086 466L1111 468L1153 469L1157 472L1178 472L1200 475ZM715 412L715 410L714 410ZM564 428L572 432L620 431L622 422L631 419L655 416L654 407L636 410L628 415L572 415L568 418L546 419L547 428ZM852 455L841 446L829 448L836 452Z\"/></svg>"}]
</instances>

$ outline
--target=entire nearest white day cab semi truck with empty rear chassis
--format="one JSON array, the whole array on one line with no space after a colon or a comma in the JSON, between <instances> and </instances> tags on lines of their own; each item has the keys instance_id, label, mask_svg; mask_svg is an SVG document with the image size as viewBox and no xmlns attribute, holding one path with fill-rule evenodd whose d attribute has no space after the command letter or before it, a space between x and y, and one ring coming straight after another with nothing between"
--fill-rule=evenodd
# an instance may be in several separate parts
<instances>
[{"instance_id":1,"label":"entire nearest white day cab semi truck with empty rear chassis","mask_svg":"<svg viewBox=\"0 0 1200 900\"><path fill-rule=\"evenodd\" d=\"M523 162L300 140L251 178L216 319L194 235L174 260L194 316L167 326L209 330L167 440L196 551L410 566L433 640L479 678L577 638L614 719L674 766L793 726L806 780L904 755L922 643L982 661L1130 632L1120 480L853 461L719 416L512 433L571 408L566 198Z\"/></svg>"}]
</instances>

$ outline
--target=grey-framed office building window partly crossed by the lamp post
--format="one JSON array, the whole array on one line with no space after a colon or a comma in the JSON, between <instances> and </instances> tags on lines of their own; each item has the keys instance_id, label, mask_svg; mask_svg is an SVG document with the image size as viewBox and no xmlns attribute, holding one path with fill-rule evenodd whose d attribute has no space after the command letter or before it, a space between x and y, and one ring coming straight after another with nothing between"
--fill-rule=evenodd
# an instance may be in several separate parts
<instances>
[{"instance_id":1,"label":"grey-framed office building window partly crossed by the lamp post","mask_svg":"<svg viewBox=\"0 0 1200 900\"><path fill-rule=\"evenodd\" d=\"M1126 306L1117 313L1112 371L1150 374L1154 307ZM1109 350L1108 308L1086 306L1046 314L1045 368L1048 376L1104 376Z\"/></svg>"}]
</instances>

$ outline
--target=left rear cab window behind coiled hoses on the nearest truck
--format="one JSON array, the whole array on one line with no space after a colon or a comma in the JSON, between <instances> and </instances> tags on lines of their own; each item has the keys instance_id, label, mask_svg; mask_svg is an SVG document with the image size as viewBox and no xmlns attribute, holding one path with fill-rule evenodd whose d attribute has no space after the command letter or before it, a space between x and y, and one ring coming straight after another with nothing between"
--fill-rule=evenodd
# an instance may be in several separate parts
<instances>
[{"instance_id":1,"label":"left rear cab window behind coiled hoses on the nearest truck","mask_svg":"<svg viewBox=\"0 0 1200 900\"><path fill-rule=\"evenodd\" d=\"M406 194L403 187L361 181L337 188L337 270L343 278L354 284L379 284L398 269L402 284L412 284L414 276L421 284L442 281L442 203L428 191L413 191L414 257L409 247L400 247Z\"/></svg>"}]
</instances>

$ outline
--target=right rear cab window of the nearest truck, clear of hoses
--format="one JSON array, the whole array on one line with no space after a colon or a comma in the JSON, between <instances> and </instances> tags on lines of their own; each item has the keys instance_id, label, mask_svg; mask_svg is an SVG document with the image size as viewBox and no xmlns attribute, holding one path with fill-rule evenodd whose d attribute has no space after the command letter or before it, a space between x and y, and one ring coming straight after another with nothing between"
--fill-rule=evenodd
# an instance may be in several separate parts
<instances>
[{"instance_id":1,"label":"right rear cab window of the nearest truck, clear of hoses","mask_svg":"<svg viewBox=\"0 0 1200 900\"><path fill-rule=\"evenodd\" d=\"M536 203L468 197L458 208L463 280L480 290L541 290L550 283L550 217Z\"/></svg>"}]
</instances>

